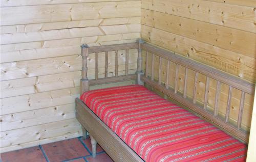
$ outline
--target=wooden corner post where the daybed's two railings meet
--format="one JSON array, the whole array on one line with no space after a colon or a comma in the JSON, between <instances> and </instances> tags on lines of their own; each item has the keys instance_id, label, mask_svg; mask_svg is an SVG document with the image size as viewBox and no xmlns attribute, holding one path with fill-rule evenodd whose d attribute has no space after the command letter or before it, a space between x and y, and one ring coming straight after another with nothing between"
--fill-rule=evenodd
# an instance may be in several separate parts
<instances>
[{"instance_id":1,"label":"wooden corner post where the daybed's two railings meet","mask_svg":"<svg viewBox=\"0 0 256 162\"><path fill-rule=\"evenodd\" d=\"M140 76L143 75L142 71L142 49L141 49L141 43L144 43L143 39L137 39L138 43L138 59L137 59L137 77L136 77L136 84L143 85L142 80L140 79Z\"/></svg>"}]
</instances>

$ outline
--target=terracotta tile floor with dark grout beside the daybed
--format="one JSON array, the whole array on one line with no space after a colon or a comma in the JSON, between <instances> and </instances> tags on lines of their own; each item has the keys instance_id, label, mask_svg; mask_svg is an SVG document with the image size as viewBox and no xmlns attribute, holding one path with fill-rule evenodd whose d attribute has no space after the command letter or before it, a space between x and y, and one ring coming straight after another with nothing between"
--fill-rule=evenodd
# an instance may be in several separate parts
<instances>
[{"instance_id":1,"label":"terracotta tile floor with dark grout beside the daybed","mask_svg":"<svg viewBox=\"0 0 256 162\"><path fill-rule=\"evenodd\" d=\"M81 137L39 145L1 154L0 162L110 162L113 161L98 145L96 158L92 157L90 139Z\"/></svg>"}]
</instances>

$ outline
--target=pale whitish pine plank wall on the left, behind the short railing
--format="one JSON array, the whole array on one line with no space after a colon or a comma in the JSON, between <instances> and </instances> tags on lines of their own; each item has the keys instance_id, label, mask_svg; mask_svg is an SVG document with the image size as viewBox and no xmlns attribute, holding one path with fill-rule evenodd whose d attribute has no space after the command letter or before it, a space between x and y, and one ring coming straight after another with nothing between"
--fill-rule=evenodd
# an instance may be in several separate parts
<instances>
[{"instance_id":1,"label":"pale whitish pine plank wall on the left, behind the short railing","mask_svg":"<svg viewBox=\"0 0 256 162\"><path fill-rule=\"evenodd\" d=\"M141 1L136 0L1 0L1 151L80 136L74 109L80 45L135 42L140 15ZM137 50L129 53L134 72ZM125 51L119 55L122 74ZM89 78L94 78L93 53L88 61ZM110 52L109 76L114 66ZM99 77L103 69L104 61Z\"/></svg>"}]
</instances>

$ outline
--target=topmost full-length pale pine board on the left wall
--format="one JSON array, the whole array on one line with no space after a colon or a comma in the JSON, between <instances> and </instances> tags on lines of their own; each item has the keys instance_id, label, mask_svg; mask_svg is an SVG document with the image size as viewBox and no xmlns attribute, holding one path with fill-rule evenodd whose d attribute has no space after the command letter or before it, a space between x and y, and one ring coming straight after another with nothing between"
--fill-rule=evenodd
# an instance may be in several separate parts
<instances>
[{"instance_id":1,"label":"topmost full-length pale pine board on the left wall","mask_svg":"<svg viewBox=\"0 0 256 162\"><path fill-rule=\"evenodd\" d=\"M4 7L1 15L2 25L135 17L140 16L140 1Z\"/></svg>"}]
</instances>

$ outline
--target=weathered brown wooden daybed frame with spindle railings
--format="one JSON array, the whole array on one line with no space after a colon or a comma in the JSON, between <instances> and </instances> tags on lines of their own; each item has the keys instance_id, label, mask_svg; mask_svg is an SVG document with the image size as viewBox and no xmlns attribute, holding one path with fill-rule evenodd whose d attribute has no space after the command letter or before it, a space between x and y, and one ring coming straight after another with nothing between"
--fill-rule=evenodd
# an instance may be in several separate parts
<instances>
[{"instance_id":1,"label":"weathered brown wooden daybed frame with spindle railings","mask_svg":"<svg viewBox=\"0 0 256 162\"><path fill-rule=\"evenodd\" d=\"M137 71L136 74L128 74L128 52L129 49L138 49L138 59L137 59ZM126 61L125 61L125 75L118 76L118 50L126 50ZM145 74L142 71L142 50L146 51L146 68ZM114 77L108 77L108 51L116 51L116 64L115 64L115 74ZM98 78L98 53L105 52L105 77ZM170 62L176 63L176 75L175 75L175 87L170 88L168 85L168 79L161 80L160 78L156 81L154 79L154 70L152 70L151 78L148 78L148 67L150 63L148 62L148 52L153 53L153 56L158 56L159 59L159 74L161 71L162 59L166 59L167 63L167 72L166 78L169 75L169 65ZM95 79L89 80L87 77L87 59L89 53L95 53L96 58L96 70L95 70ZM82 79L81 79L81 94L89 91L89 86L122 82L124 80L136 80L136 84L143 85L146 83L149 86L152 86L156 90L164 93L165 95L177 100L181 104L185 105L189 109L193 110L195 113L201 115L203 118L211 121L215 125L225 129L228 133L232 134L233 137L236 137L245 143L248 143L248 132L245 132L241 129L242 123L242 113L244 107L245 94L254 94L254 85L242 80L240 78L234 77L227 73L224 73L220 70L211 68L209 66L200 64L193 60L175 55L173 52L155 47L148 43L143 42L139 39L137 43L126 43L126 44L116 44L116 45L105 45L105 46L96 46L89 47L88 45L81 46L82 54ZM154 69L154 59L151 62L151 68ZM179 66L185 67L185 77L184 77L184 92L180 94L177 92L178 87L178 72ZM194 93L193 97L189 99L186 95L187 87L187 73L188 69L195 71L195 84L194 84ZM196 91L197 91L197 77L201 73L206 76L206 87L204 95L204 103L200 105L196 102ZM206 110L207 100L208 100L208 89L209 89L209 78L217 80L216 87L216 99L214 111L210 112ZM165 84L162 84L164 82ZM224 83L229 86L228 100L226 107L226 115L224 119L218 116L218 102L220 96L220 85ZM238 124L233 126L229 123L229 112L230 112L230 101L232 95L232 88L236 88L242 91L239 115L238 115ZM79 98L76 98L76 118L81 123L83 128L83 137L87 137L87 131L91 137L92 143L92 152L93 157L96 156L96 144L99 143L100 146L109 154L109 156L114 161L143 161L139 155L137 155L128 145L126 145L105 123L103 123L88 107L84 104ZM97 142L96 142L97 141Z\"/></svg>"}]
</instances>

